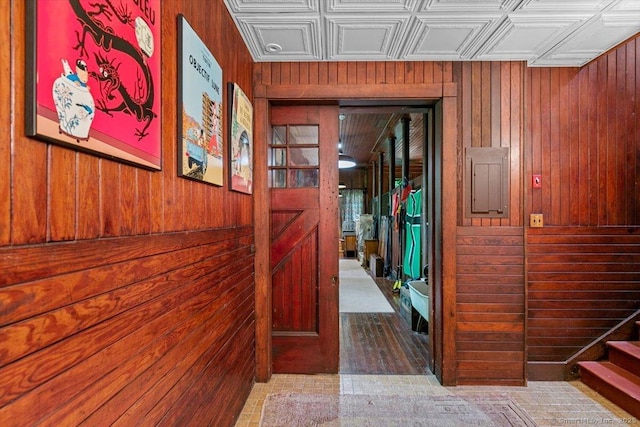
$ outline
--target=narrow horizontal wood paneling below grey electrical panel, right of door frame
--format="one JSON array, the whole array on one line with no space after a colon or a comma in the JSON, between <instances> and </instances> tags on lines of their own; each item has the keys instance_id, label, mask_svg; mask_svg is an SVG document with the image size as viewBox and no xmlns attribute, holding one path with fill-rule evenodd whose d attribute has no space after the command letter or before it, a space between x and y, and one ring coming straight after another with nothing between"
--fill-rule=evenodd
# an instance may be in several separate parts
<instances>
[{"instance_id":1,"label":"narrow horizontal wood paneling below grey electrical panel, right of door frame","mask_svg":"<svg viewBox=\"0 0 640 427\"><path fill-rule=\"evenodd\" d=\"M518 227L458 227L458 384L525 381L522 233Z\"/></svg>"}]
</instances>

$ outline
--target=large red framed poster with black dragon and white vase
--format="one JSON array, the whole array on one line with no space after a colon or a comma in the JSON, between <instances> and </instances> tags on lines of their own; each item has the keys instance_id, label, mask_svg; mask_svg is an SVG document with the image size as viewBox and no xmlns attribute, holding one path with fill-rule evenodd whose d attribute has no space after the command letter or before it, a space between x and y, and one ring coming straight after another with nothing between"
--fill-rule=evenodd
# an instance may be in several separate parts
<instances>
[{"instance_id":1,"label":"large red framed poster with black dragon and white vase","mask_svg":"<svg viewBox=\"0 0 640 427\"><path fill-rule=\"evenodd\" d=\"M160 0L28 0L26 133L159 170Z\"/></svg>"}]
</instances>

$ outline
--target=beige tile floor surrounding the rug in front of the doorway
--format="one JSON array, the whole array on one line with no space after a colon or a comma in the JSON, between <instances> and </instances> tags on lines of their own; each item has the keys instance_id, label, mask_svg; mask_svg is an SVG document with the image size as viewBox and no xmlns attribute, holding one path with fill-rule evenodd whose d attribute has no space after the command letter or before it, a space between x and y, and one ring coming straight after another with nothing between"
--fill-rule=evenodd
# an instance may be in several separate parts
<instances>
[{"instance_id":1,"label":"beige tile floor surrounding the rug in front of the doorway","mask_svg":"<svg viewBox=\"0 0 640 427\"><path fill-rule=\"evenodd\" d=\"M639 425L640 421L581 382L529 382L527 387L443 387L433 375L273 375L256 383L236 427L260 423L265 397L270 393L326 393L448 395L501 393L509 395L540 426ZM286 427L286 426L283 426Z\"/></svg>"}]
</instances>

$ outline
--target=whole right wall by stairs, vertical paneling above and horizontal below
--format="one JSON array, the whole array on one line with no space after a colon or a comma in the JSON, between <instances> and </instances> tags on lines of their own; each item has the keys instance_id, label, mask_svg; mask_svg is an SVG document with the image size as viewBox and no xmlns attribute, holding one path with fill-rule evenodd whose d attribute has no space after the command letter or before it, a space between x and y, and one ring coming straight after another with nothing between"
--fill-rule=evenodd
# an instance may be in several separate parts
<instances>
[{"instance_id":1,"label":"whole right wall by stairs, vertical paneling above and horizontal below","mask_svg":"<svg viewBox=\"0 0 640 427\"><path fill-rule=\"evenodd\" d=\"M549 379L640 307L640 36L525 82L526 214L545 224L526 228L527 344Z\"/></svg>"}]
</instances>

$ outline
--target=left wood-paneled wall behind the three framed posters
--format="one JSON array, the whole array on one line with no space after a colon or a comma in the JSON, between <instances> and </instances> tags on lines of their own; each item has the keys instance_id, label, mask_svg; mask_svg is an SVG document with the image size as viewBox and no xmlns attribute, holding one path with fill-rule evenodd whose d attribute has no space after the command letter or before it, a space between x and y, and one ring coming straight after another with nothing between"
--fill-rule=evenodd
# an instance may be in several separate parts
<instances>
[{"instance_id":1,"label":"left wood-paneled wall behind the three framed posters","mask_svg":"<svg viewBox=\"0 0 640 427\"><path fill-rule=\"evenodd\" d=\"M3 426L233 425L253 384L252 197L177 177L178 13L249 97L252 59L222 0L161 9L152 172L25 137L25 2L0 0Z\"/></svg>"}]
</instances>

